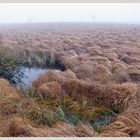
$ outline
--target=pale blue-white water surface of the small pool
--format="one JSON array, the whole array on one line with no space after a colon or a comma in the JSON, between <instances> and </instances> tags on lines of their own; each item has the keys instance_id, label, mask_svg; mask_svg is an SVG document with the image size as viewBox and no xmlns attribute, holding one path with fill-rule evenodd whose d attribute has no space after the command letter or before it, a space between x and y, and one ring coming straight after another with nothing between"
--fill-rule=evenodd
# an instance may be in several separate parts
<instances>
[{"instance_id":1,"label":"pale blue-white water surface of the small pool","mask_svg":"<svg viewBox=\"0 0 140 140\"><path fill-rule=\"evenodd\" d=\"M25 87L30 87L32 85L32 82L36 80L44 71L45 69L41 68L27 68L24 67L22 69L24 73L24 77L22 78L23 84L20 84L18 86L25 86Z\"/></svg>"}]
</instances>

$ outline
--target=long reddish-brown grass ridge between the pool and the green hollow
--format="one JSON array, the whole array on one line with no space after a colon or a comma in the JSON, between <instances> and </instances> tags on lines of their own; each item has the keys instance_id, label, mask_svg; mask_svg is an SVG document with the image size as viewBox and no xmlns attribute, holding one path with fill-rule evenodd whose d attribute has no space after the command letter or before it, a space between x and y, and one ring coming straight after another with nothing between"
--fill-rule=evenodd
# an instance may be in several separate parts
<instances>
[{"instance_id":1,"label":"long reddish-brown grass ridge between the pool and the green hollow","mask_svg":"<svg viewBox=\"0 0 140 140\"><path fill-rule=\"evenodd\" d=\"M50 72L52 73L51 78L48 79ZM55 75L54 77L53 74ZM45 75L49 76L45 79ZM52 81L61 81L59 84L53 83L50 87L50 90L51 88L54 90L52 93L55 96L58 95L58 92L59 96L66 94L72 96L75 100L81 100L81 97L85 96L91 104L103 105L118 111L122 110L130 100L132 102L135 101L137 91L136 85L131 83L106 86L96 83L90 84L78 79L65 78L64 76L60 76L59 72L53 71L46 72L42 78L42 81L39 78L34 82L34 87L38 90L38 94L43 94L43 91L46 94L49 93L48 89ZM42 86L39 88L36 86L38 83L42 83ZM56 90L57 87L58 90Z\"/></svg>"}]
</instances>

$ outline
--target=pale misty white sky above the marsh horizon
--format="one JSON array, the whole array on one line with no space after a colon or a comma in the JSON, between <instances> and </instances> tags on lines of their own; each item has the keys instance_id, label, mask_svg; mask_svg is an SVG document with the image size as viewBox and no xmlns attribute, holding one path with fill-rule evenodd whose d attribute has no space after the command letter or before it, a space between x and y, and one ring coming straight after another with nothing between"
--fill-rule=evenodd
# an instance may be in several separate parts
<instances>
[{"instance_id":1,"label":"pale misty white sky above the marsh horizon","mask_svg":"<svg viewBox=\"0 0 140 140\"><path fill-rule=\"evenodd\" d=\"M69 21L140 24L140 3L0 3L0 23Z\"/></svg>"}]
</instances>

